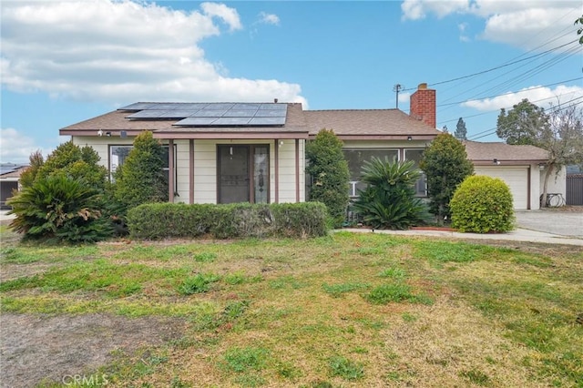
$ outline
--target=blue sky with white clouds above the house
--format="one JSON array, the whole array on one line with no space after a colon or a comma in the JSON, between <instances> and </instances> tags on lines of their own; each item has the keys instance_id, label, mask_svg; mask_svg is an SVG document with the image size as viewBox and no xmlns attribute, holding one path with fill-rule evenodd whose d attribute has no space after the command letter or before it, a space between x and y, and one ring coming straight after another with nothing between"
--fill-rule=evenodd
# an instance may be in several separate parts
<instances>
[{"instance_id":1,"label":"blue sky with white clouds above the house","mask_svg":"<svg viewBox=\"0 0 583 388\"><path fill-rule=\"evenodd\" d=\"M5 0L0 160L137 101L399 108L437 90L437 127L498 141L501 107L583 107L580 1ZM333 128L332 128L333 129Z\"/></svg>"}]
</instances>

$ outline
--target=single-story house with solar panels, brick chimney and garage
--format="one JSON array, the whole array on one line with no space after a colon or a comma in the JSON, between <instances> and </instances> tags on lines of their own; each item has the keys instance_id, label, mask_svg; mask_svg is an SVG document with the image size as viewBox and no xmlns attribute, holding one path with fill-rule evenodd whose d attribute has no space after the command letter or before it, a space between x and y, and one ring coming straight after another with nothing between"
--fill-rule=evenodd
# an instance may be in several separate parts
<instances>
[{"instance_id":1,"label":"single-story house with solar panels, brick chimney and garage","mask_svg":"<svg viewBox=\"0 0 583 388\"><path fill-rule=\"evenodd\" d=\"M343 140L351 195L361 187L363 160L373 156L418 162L441 132L435 128L435 90L421 84L411 111L304 110L300 103L138 102L59 130L91 146L113 172L144 130L168 150L169 200L186 203L302 202L309 198L305 146L322 129ZM516 209L538 209L547 152L531 146L465 142L476 174L506 180ZM540 166L540 167L539 167ZM425 196L425 182L416 185ZM548 192L565 193L565 173Z\"/></svg>"}]
</instances>

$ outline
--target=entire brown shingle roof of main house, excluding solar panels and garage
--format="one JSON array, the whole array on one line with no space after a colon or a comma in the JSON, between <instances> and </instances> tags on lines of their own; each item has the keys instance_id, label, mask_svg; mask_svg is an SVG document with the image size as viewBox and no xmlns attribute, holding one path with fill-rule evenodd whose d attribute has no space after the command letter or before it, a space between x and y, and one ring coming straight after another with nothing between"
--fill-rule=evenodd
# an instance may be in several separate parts
<instances>
[{"instance_id":1,"label":"entire brown shingle roof of main house, excluding solar panels and garage","mask_svg":"<svg viewBox=\"0 0 583 388\"><path fill-rule=\"evenodd\" d=\"M132 106L145 107L151 104L161 103L136 103ZM155 138L308 138L315 137L322 128L327 128L342 139L412 137L419 140L431 140L441 133L399 109L303 110L300 103L288 103L285 124L282 126L230 127L182 127L176 125L178 118L128 118L135 112L121 108L61 128L59 132L60 135L97 136L101 130L104 134L109 132L111 136L120 136L125 131L128 136L136 136L143 130L150 130Z\"/></svg>"}]
</instances>

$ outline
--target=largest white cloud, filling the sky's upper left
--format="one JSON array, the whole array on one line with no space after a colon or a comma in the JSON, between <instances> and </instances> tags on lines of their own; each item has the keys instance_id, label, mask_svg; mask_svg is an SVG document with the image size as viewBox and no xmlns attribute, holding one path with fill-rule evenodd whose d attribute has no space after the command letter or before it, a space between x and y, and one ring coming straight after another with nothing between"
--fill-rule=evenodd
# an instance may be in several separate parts
<instances>
[{"instance_id":1,"label":"largest white cloud, filling the sky's upper left","mask_svg":"<svg viewBox=\"0 0 583 388\"><path fill-rule=\"evenodd\" d=\"M215 24L215 20L220 24ZM305 102L297 84L228 77L199 44L240 30L227 5L176 11L136 1L2 5L2 85L85 101L271 100Z\"/></svg>"}]
</instances>

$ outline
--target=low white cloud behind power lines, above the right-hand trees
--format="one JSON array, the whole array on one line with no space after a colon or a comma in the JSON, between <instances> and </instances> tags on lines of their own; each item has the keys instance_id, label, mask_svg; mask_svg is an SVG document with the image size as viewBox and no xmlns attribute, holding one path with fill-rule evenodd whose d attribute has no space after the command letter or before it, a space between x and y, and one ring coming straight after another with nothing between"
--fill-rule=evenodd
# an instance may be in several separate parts
<instances>
[{"instance_id":1,"label":"low white cloud behind power lines, above the right-hand trees","mask_svg":"<svg viewBox=\"0 0 583 388\"><path fill-rule=\"evenodd\" d=\"M568 104L574 98L583 97L583 87L568 87L559 85L551 89L549 87L527 87L516 93L507 93L502 96L466 101L463 107L473 107L482 111L494 111L501 108L511 108L524 98L539 107L548 108L550 104Z\"/></svg>"}]
</instances>

